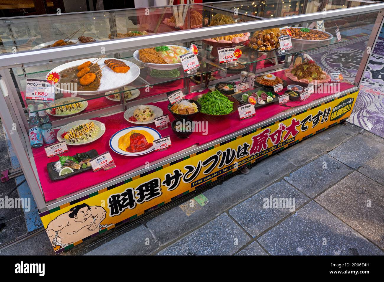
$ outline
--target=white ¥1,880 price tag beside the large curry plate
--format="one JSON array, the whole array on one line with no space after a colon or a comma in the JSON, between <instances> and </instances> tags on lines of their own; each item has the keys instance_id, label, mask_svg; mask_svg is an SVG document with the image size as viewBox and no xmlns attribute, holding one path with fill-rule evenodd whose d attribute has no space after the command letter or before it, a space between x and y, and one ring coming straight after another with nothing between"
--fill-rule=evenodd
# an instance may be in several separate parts
<instances>
[{"instance_id":1,"label":"white \u00a51,880 price tag beside the large curry plate","mask_svg":"<svg viewBox=\"0 0 384 282\"><path fill-rule=\"evenodd\" d=\"M54 85L39 79L26 79L26 100L40 100L46 102L55 101Z\"/></svg>"}]
</instances>

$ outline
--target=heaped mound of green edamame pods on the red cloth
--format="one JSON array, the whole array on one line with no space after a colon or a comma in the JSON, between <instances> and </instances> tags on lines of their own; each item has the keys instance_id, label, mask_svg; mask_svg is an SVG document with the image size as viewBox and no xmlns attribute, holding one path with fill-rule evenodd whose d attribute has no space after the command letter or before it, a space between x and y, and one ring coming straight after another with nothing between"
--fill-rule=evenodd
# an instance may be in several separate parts
<instances>
[{"instance_id":1,"label":"heaped mound of green edamame pods on the red cloth","mask_svg":"<svg viewBox=\"0 0 384 282\"><path fill-rule=\"evenodd\" d=\"M197 102L201 105L200 111L208 115L228 115L233 111L233 102L218 90L204 94Z\"/></svg>"}]
</instances>

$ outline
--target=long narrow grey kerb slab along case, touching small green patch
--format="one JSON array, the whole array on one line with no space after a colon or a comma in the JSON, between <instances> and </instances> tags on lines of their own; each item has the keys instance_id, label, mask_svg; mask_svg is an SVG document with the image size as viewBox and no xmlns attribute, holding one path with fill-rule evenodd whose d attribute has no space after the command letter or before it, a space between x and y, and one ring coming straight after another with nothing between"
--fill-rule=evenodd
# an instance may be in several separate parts
<instances>
[{"instance_id":1,"label":"long narrow grey kerb slab along case, touching small green patch","mask_svg":"<svg viewBox=\"0 0 384 282\"><path fill-rule=\"evenodd\" d=\"M281 156L268 157L253 166L249 174L235 175L221 185L205 191L204 195L209 202L190 216L187 216L180 207L175 207L148 221L147 226L161 244L166 244L212 220L228 207L252 196L295 168Z\"/></svg>"}]
</instances>

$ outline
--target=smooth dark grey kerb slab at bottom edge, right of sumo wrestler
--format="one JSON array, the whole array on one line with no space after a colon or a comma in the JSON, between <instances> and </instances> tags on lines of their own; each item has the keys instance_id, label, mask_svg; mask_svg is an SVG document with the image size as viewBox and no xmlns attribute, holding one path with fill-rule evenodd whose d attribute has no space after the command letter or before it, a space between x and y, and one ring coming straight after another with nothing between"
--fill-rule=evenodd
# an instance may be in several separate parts
<instances>
[{"instance_id":1,"label":"smooth dark grey kerb slab at bottom edge, right of sumo wrestler","mask_svg":"<svg viewBox=\"0 0 384 282\"><path fill-rule=\"evenodd\" d=\"M87 252L87 256L147 255L159 249L159 243L144 225L136 227Z\"/></svg>"}]
</instances>

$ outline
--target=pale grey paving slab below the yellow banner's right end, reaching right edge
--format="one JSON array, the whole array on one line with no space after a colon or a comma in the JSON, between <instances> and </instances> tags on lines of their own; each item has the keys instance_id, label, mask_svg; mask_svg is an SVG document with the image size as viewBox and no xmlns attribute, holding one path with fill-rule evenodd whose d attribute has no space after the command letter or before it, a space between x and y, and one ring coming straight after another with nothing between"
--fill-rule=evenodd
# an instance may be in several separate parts
<instances>
[{"instance_id":1,"label":"pale grey paving slab below the yellow banner's right end, reaching right edge","mask_svg":"<svg viewBox=\"0 0 384 282\"><path fill-rule=\"evenodd\" d=\"M328 154L347 166L357 169L383 150L384 144L358 134Z\"/></svg>"}]
</instances>

